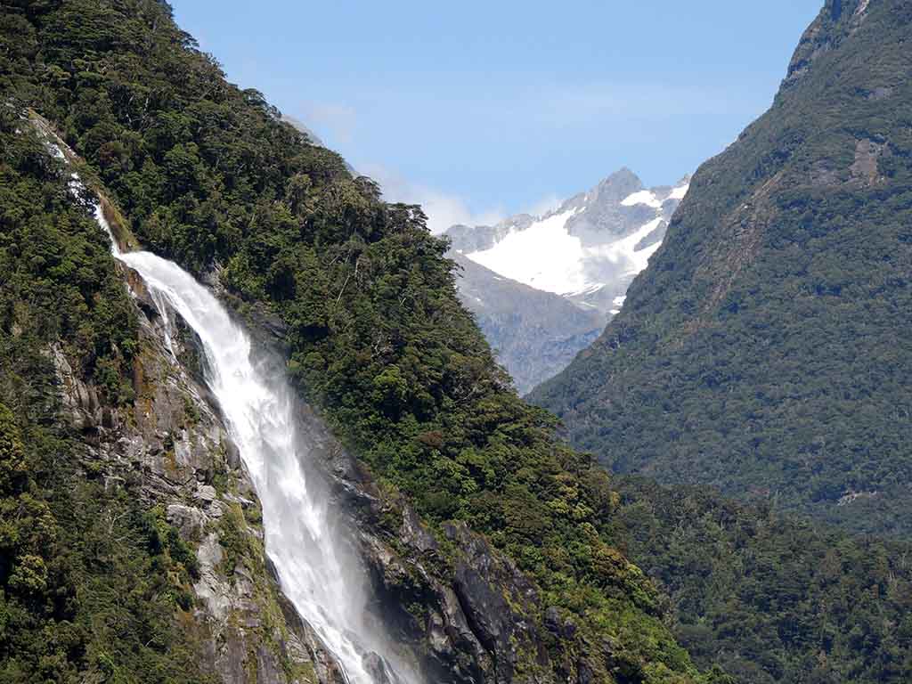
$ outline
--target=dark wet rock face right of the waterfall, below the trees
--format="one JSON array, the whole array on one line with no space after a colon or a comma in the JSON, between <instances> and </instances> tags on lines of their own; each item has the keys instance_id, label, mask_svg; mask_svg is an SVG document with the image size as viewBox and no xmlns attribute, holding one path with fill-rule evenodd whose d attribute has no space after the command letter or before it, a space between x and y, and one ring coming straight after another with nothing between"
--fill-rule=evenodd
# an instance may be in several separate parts
<instances>
[{"instance_id":1,"label":"dark wet rock face right of the waterfall, below the trees","mask_svg":"<svg viewBox=\"0 0 912 684\"><path fill-rule=\"evenodd\" d=\"M339 503L351 512L378 616L417 654L428 680L557 681L535 627L537 592L525 575L464 524L446 525L439 539L407 503L378 491L315 414L307 410L302 421Z\"/></svg>"}]
</instances>

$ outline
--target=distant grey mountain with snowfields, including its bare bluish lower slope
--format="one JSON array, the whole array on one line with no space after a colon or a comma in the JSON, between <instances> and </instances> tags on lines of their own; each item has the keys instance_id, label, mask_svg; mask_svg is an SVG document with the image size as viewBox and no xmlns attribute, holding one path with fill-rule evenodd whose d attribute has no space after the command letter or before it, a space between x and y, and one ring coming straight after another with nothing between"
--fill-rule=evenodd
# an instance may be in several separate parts
<instances>
[{"instance_id":1,"label":"distant grey mountain with snowfields, including its bare bluish lower slope","mask_svg":"<svg viewBox=\"0 0 912 684\"><path fill-rule=\"evenodd\" d=\"M624 304L688 191L617 171L543 216L454 225L463 304L525 393L563 370Z\"/></svg>"}]
</instances>

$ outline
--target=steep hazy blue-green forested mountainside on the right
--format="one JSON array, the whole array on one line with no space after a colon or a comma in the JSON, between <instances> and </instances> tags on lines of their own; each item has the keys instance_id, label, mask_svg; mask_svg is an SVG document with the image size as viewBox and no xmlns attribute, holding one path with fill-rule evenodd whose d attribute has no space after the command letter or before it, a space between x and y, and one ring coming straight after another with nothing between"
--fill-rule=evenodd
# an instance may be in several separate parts
<instances>
[{"instance_id":1,"label":"steep hazy blue-green forested mountainside on the right","mask_svg":"<svg viewBox=\"0 0 912 684\"><path fill-rule=\"evenodd\" d=\"M533 400L617 472L912 531L912 5L830 0Z\"/></svg>"}]
</instances>

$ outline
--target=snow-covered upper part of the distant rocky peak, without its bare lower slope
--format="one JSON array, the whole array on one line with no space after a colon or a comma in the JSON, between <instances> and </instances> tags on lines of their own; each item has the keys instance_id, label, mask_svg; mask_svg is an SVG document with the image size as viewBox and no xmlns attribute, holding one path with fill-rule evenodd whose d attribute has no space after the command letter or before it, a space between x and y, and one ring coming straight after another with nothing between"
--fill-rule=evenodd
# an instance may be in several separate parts
<instances>
[{"instance_id":1,"label":"snow-covered upper part of the distant rocky peak, without its bare lower slope","mask_svg":"<svg viewBox=\"0 0 912 684\"><path fill-rule=\"evenodd\" d=\"M684 179L647 189L622 169L543 216L457 225L447 234L454 251L498 275L614 314L661 244L688 186Z\"/></svg>"}]
</instances>

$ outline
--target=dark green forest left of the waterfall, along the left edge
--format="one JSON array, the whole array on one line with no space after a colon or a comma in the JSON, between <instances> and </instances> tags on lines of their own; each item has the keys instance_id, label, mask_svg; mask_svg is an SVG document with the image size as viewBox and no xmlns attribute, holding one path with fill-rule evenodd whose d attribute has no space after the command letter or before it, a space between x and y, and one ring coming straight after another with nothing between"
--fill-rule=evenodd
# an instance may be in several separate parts
<instances>
[{"instance_id":1,"label":"dark green forest left of the waterfall, along the left edge","mask_svg":"<svg viewBox=\"0 0 912 684\"><path fill-rule=\"evenodd\" d=\"M0 681L204 682L175 621L195 557L59 420L51 346L117 402L136 325L88 204L22 127L0 107Z\"/></svg>"}]
</instances>

